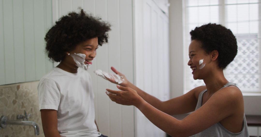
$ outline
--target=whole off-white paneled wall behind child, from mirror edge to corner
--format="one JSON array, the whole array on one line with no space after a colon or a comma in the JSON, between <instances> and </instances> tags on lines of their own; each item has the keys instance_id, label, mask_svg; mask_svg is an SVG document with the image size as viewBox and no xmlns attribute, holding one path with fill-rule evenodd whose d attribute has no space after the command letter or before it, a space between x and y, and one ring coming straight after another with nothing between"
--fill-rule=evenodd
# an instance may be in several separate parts
<instances>
[{"instance_id":1,"label":"whole off-white paneled wall behind child, from mirror edge to corner","mask_svg":"<svg viewBox=\"0 0 261 137\"><path fill-rule=\"evenodd\" d=\"M92 77L96 121L100 132L110 137L132 137L134 107L112 102L105 94L105 89L116 90L116 85L93 73L97 69L113 73L110 67L114 66L124 73L129 81L134 81L132 1L53 0L53 20L72 10L79 12L79 6L87 13L101 17L112 25L109 43L103 44L97 50L93 65L88 70Z\"/></svg>"}]
</instances>

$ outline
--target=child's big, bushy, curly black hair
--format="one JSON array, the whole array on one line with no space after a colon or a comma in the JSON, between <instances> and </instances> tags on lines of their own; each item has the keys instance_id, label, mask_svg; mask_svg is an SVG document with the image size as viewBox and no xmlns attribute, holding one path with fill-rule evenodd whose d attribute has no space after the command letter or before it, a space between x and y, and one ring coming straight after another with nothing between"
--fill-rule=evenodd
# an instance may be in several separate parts
<instances>
[{"instance_id":1,"label":"child's big, bushy, curly black hair","mask_svg":"<svg viewBox=\"0 0 261 137\"><path fill-rule=\"evenodd\" d=\"M88 39L98 37L98 44L102 46L108 42L110 26L82 9L79 13L70 12L56 21L46 33L46 53L52 61L59 62L64 59L66 52L74 50L77 44Z\"/></svg>"}]
</instances>

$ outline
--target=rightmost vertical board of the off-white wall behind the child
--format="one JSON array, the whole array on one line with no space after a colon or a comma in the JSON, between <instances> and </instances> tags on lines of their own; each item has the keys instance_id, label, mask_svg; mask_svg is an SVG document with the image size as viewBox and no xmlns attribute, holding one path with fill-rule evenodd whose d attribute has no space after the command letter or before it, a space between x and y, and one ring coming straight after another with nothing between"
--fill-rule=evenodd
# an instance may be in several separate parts
<instances>
[{"instance_id":1,"label":"rightmost vertical board of the off-white wall behind the child","mask_svg":"<svg viewBox=\"0 0 261 137\"><path fill-rule=\"evenodd\" d=\"M121 72L134 81L132 1L120 1ZM122 136L134 136L134 107L122 106Z\"/></svg>"}]
</instances>

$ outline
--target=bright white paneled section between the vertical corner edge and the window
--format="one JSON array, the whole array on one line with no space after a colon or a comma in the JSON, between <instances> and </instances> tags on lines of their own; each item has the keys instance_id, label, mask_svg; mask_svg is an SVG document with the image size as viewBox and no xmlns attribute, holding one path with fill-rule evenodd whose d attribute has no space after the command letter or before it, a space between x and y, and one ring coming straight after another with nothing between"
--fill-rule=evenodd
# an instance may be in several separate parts
<instances>
[{"instance_id":1,"label":"bright white paneled section between the vertical corner edge and the window","mask_svg":"<svg viewBox=\"0 0 261 137\"><path fill-rule=\"evenodd\" d=\"M153 0L137 0L135 5L135 84L145 92L165 101L170 97L169 19ZM155 116L156 117L156 116ZM137 137L164 137L135 108Z\"/></svg>"}]
</instances>

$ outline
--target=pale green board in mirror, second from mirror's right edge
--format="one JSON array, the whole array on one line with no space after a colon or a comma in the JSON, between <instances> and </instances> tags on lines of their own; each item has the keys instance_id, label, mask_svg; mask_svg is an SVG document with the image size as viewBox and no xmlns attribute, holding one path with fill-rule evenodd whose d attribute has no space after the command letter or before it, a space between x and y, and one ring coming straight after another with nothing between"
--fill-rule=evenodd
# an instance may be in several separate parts
<instances>
[{"instance_id":1,"label":"pale green board in mirror, second from mirror's right edge","mask_svg":"<svg viewBox=\"0 0 261 137\"><path fill-rule=\"evenodd\" d=\"M45 74L45 43L44 43L44 1L34 1L34 38L35 38L35 70L36 79L41 79Z\"/></svg>"}]
</instances>

